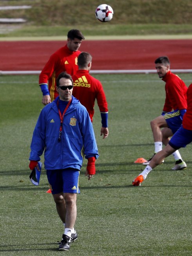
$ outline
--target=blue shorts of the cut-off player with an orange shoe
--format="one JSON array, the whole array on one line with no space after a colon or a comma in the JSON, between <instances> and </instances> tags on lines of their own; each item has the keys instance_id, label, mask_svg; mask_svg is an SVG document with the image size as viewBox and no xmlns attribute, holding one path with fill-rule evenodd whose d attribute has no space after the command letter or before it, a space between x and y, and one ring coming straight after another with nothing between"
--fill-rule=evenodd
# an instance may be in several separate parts
<instances>
[{"instance_id":1,"label":"blue shorts of the cut-off player with an orange shoe","mask_svg":"<svg viewBox=\"0 0 192 256\"><path fill-rule=\"evenodd\" d=\"M184 129L183 126L173 135L169 141L169 145L174 149L185 148L187 144L192 142L192 131Z\"/></svg>"}]
</instances>

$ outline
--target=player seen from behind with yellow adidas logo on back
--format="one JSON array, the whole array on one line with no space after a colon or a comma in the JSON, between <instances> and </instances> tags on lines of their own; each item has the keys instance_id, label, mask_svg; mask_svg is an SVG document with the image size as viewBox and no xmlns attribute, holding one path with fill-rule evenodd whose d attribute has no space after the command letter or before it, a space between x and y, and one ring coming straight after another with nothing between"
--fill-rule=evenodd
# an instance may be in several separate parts
<instances>
[{"instance_id":1,"label":"player seen from behind with yellow adidas logo on back","mask_svg":"<svg viewBox=\"0 0 192 256\"><path fill-rule=\"evenodd\" d=\"M94 115L95 99L101 113L101 136L105 139L109 135L107 128L108 108L105 92L101 82L89 74L91 69L92 56L87 52L82 52L78 56L78 71L72 76L73 96L76 97L85 108L91 118Z\"/></svg>"}]
</instances>

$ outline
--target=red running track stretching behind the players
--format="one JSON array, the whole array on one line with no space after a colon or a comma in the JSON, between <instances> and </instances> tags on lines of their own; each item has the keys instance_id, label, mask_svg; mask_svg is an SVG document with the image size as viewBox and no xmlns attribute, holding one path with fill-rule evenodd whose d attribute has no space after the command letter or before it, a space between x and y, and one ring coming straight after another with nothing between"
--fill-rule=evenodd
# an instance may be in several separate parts
<instances>
[{"instance_id":1,"label":"red running track stretching behind the players","mask_svg":"<svg viewBox=\"0 0 192 256\"><path fill-rule=\"evenodd\" d=\"M42 70L64 41L0 42L0 70ZM192 68L192 40L85 40L81 51L91 53L92 70L154 69L154 60L167 55L171 69Z\"/></svg>"}]
</instances>

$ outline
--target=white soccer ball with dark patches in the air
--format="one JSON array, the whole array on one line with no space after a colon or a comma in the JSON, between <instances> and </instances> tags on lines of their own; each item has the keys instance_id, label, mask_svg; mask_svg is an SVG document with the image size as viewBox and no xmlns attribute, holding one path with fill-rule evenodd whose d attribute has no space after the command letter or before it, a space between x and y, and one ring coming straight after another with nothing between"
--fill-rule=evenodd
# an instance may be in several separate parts
<instances>
[{"instance_id":1,"label":"white soccer ball with dark patches in the air","mask_svg":"<svg viewBox=\"0 0 192 256\"><path fill-rule=\"evenodd\" d=\"M101 4L96 8L95 16L101 22L107 22L113 17L113 9L108 4Z\"/></svg>"}]
</instances>

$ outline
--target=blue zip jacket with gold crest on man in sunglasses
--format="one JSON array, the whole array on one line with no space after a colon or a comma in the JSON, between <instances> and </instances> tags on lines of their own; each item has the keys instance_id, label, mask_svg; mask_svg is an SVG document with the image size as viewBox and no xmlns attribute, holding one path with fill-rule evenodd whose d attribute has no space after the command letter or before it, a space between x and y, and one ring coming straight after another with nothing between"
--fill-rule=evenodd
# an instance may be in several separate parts
<instances>
[{"instance_id":1,"label":"blue zip jacket with gold crest on man in sunglasses","mask_svg":"<svg viewBox=\"0 0 192 256\"><path fill-rule=\"evenodd\" d=\"M83 158L99 157L91 119L86 108L72 96L63 117L61 141L57 97L46 105L38 118L31 141L29 160L40 161L44 152L45 169L75 168L80 170Z\"/></svg>"}]
</instances>

